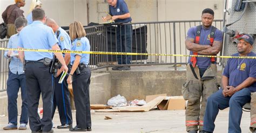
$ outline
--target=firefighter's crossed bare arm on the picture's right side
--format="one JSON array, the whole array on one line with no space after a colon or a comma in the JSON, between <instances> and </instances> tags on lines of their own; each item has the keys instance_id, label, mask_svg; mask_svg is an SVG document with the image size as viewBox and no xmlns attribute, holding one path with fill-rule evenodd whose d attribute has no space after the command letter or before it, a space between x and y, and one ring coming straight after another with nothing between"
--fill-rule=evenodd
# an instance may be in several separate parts
<instances>
[{"instance_id":1,"label":"firefighter's crossed bare arm on the picture's right side","mask_svg":"<svg viewBox=\"0 0 256 133\"><path fill-rule=\"evenodd\" d=\"M220 41L213 41L213 45L210 48L197 51L201 55L217 55L222 48L223 43Z\"/></svg>"}]
</instances>

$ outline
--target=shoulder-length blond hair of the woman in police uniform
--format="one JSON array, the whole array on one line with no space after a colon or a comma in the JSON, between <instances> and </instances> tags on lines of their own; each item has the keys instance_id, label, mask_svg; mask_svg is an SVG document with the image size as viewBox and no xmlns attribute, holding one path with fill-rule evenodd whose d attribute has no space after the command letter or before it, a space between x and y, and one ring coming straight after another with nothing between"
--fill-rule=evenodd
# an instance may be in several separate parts
<instances>
[{"instance_id":1,"label":"shoulder-length blond hair of the woman in police uniform","mask_svg":"<svg viewBox=\"0 0 256 133\"><path fill-rule=\"evenodd\" d=\"M86 36L86 32L82 23L79 21L74 21L69 25L69 36L71 40L75 40L77 38L83 38Z\"/></svg>"}]
</instances>

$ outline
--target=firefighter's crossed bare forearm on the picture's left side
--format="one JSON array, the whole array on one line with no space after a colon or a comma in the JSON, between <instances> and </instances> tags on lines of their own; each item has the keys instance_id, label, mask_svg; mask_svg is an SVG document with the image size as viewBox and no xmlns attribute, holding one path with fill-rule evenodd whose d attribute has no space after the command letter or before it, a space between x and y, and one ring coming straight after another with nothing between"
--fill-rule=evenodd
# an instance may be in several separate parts
<instances>
[{"instance_id":1,"label":"firefighter's crossed bare forearm on the picture's left side","mask_svg":"<svg viewBox=\"0 0 256 133\"><path fill-rule=\"evenodd\" d=\"M186 44L187 50L195 51L195 52L200 50L205 50L211 47L210 45L198 45L197 43L194 43L194 39L192 38L186 38L185 44Z\"/></svg>"}]
</instances>

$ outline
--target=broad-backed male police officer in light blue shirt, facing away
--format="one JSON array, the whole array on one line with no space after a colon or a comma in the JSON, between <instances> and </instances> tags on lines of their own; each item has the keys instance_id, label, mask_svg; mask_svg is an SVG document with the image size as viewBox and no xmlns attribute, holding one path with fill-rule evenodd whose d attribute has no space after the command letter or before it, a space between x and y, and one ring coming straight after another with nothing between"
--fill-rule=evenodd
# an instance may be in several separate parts
<instances>
[{"instance_id":1,"label":"broad-backed male police officer in light blue shirt, facing away","mask_svg":"<svg viewBox=\"0 0 256 133\"><path fill-rule=\"evenodd\" d=\"M57 45L58 40L52 29L45 23L45 12L43 9L32 11L33 23L26 26L19 33L19 48L28 49L52 49L60 50ZM62 64L60 70L68 72L63 55L55 53ZM52 53L39 51L19 51L19 57L24 60L26 86L28 89L28 114L29 125L32 132L53 132L52 130L52 73L50 73L50 63ZM42 92L44 114L40 119L37 109Z\"/></svg>"}]
</instances>

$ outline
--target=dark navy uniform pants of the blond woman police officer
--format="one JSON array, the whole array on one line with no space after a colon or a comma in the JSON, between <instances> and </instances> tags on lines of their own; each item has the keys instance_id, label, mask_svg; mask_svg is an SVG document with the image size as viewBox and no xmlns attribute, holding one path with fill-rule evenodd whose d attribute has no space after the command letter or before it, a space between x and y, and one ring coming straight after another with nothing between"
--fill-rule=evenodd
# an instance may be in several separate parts
<instances>
[{"instance_id":1,"label":"dark navy uniform pants of the blond woman police officer","mask_svg":"<svg viewBox=\"0 0 256 133\"><path fill-rule=\"evenodd\" d=\"M76 121L78 128L91 127L91 110L89 86L91 83L91 70L84 68L79 75L73 73L73 93L76 107Z\"/></svg>"}]
</instances>

